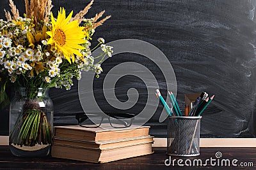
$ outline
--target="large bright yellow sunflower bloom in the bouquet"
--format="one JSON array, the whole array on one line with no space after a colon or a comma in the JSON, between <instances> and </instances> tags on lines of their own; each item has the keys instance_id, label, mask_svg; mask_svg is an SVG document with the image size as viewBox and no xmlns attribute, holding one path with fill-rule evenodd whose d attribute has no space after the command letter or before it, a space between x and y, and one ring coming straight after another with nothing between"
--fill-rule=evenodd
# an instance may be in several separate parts
<instances>
[{"instance_id":1,"label":"large bright yellow sunflower bloom in the bouquet","mask_svg":"<svg viewBox=\"0 0 256 170\"><path fill-rule=\"evenodd\" d=\"M69 22L72 14L73 11L66 18L65 9L60 8L56 21L51 14L52 30L46 32L51 36L47 44L54 46L58 52L62 52L70 63L70 57L72 57L72 62L75 60L74 54L82 56L79 50L83 50L84 47L80 44L86 43L84 27L79 27L77 20Z\"/></svg>"}]
</instances>

